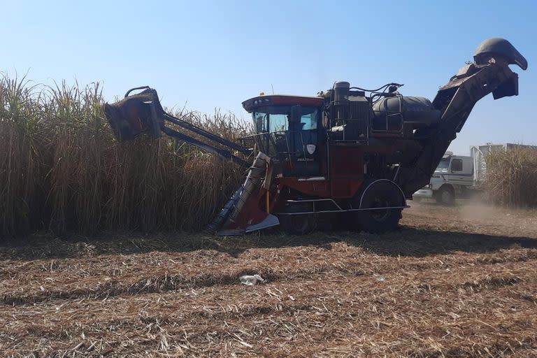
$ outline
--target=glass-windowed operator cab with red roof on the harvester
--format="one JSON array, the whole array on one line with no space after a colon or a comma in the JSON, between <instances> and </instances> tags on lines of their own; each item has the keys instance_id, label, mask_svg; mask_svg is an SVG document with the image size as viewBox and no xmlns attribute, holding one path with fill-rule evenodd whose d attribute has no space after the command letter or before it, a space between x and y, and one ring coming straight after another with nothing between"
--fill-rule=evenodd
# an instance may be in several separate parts
<instances>
[{"instance_id":1,"label":"glass-windowed operator cab with red roof on the harvester","mask_svg":"<svg viewBox=\"0 0 537 358\"><path fill-rule=\"evenodd\" d=\"M318 176L325 154L321 97L257 96L243 102L252 113L259 150L282 165L287 176ZM322 153L322 154L321 154Z\"/></svg>"}]
</instances>

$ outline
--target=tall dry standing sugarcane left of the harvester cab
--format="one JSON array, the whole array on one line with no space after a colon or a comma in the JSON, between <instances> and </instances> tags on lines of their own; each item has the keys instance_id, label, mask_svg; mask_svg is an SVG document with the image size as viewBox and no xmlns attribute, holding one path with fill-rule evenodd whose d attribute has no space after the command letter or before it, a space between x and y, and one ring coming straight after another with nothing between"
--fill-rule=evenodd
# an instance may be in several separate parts
<instances>
[{"instance_id":1,"label":"tall dry standing sugarcane left of the harvester cab","mask_svg":"<svg viewBox=\"0 0 537 358\"><path fill-rule=\"evenodd\" d=\"M31 86L0 78L0 236L36 230L200 229L243 171L172 138L117 143L99 85ZM225 138L234 115L178 117Z\"/></svg>"}]
</instances>

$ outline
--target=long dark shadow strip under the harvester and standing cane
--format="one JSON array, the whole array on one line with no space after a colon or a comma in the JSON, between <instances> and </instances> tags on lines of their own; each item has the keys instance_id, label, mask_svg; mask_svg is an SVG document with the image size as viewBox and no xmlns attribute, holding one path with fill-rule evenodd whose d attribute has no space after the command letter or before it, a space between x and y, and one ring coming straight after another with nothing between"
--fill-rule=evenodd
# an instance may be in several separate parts
<instances>
[{"instance_id":1,"label":"long dark shadow strip under the harvester and standing cane","mask_svg":"<svg viewBox=\"0 0 537 358\"><path fill-rule=\"evenodd\" d=\"M423 257L449 252L494 252L519 246L537 248L537 238L494 236L459 231L400 227L389 234L350 231L315 232L308 236L289 236L269 231L248 236L218 237L193 233L178 234L102 234L85 236L30 236L1 241L0 259L59 259L99 255L133 255L146 252L189 252L217 250L237 257L251 248L317 246L327 250L335 242L359 246L378 255Z\"/></svg>"}]
</instances>

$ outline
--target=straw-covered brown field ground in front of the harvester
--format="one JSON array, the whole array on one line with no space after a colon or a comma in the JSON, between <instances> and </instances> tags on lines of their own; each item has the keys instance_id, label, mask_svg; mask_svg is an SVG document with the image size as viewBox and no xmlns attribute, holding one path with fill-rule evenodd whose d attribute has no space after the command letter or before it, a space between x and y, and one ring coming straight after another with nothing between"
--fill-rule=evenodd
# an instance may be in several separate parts
<instances>
[{"instance_id":1,"label":"straw-covered brown field ground in front of the harvester","mask_svg":"<svg viewBox=\"0 0 537 358\"><path fill-rule=\"evenodd\" d=\"M537 356L537 212L412 206L384 235L4 241L0 352Z\"/></svg>"}]
</instances>

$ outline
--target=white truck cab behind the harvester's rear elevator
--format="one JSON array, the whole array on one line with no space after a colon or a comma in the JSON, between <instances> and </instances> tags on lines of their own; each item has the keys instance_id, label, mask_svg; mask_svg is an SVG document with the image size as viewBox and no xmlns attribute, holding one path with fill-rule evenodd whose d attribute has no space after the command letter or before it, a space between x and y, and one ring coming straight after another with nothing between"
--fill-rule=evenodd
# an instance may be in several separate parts
<instances>
[{"instance_id":1,"label":"white truck cab behind the harvester's rear elevator","mask_svg":"<svg viewBox=\"0 0 537 358\"><path fill-rule=\"evenodd\" d=\"M457 197L466 196L473 187L473 158L446 152L434 171L431 181L413 194L415 199L432 198L452 205Z\"/></svg>"}]
</instances>

